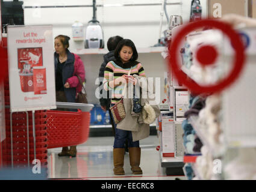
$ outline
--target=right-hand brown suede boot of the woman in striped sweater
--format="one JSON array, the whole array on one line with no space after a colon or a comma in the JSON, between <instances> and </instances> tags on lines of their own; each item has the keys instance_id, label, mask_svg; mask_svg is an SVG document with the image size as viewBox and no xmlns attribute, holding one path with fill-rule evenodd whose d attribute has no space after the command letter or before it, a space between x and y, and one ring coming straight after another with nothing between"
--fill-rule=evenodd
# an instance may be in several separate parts
<instances>
[{"instance_id":1,"label":"right-hand brown suede boot of the woman in striped sweater","mask_svg":"<svg viewBox=\"0 0 256 192\"><path fill-rule=\"evenodd\" d=\"M142 174L142 169L140 169L140 148L129 148L130 165L133 174Z\"/></svg>"}]
</instances>

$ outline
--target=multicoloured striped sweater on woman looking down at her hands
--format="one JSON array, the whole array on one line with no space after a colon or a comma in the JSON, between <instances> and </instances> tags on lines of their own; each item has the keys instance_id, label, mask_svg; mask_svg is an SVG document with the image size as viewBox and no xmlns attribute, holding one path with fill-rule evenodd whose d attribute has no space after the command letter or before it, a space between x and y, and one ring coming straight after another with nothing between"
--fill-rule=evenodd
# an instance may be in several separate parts
<instances>
[{"instance_id":1,"label":"multicoloured striped sweater on woman looking down at her hands","mask_svg":"<svg viewBox=\"0 0 256 192\"><path fill-rule=\"evenodd\" d=\"M104 71L104 89L105 90L112 90L111 95L111 103L116 104L120 98L122 97L122 90L124 86L119 85L115 88L110 88L108 86L108 82L111 80L117 79L118 77L122 77L124 74L128 74L131 69L131 76L134 74L137 74L138 76L146 77L144 68L142 67L142 64L134 65L132 68L122 68L119 67L114 63L114 61L108 62L106 65L105 71Z\"/></svg>"}]
</instances>

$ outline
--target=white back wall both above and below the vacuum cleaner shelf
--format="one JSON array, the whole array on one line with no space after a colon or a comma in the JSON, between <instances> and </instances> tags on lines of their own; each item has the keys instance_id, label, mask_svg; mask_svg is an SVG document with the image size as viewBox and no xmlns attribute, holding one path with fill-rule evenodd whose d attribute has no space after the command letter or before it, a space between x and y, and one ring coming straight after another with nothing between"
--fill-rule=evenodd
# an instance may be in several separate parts
<instances>
[{"instance_id":1,"label":"white back wall both above and below the vacuum cleaner shelf","mask_svg":"<svg viewBox=\"0 0 256 192\"><path fill-rule=\"evenodd\" d=\"M53 25L54 37L59 34L72 37L72 24L79 20L86 28L89 20L92 20L92 7L78 8L26 8L28 6L52 6L52 5L92 5L92 0L23 0L25 25ZM101 0L96 1L98 5L106 4L160 4L161 0ZM183 16L184 22L189 20L190 0L172 0L167 3L182 2L183 5L167 5L170 15ZM206 14L206 0L201 0ZM149 47L157 44L159 37L161 5L133 6L133 7L98 7L97 19L104 30L105 47L109 37L120 35L130 38L136 47ZM163 17L163 29L167 29L166 17ZM53 46L52 46L53 47ZM70 50L83 49L84 43L70 40ZM86 69L87 94L89 103L99 103L95 97L95 80L98 77L99 67L102 63L102 55L81 55ZM139 59L145 68L148 77L161 77L161 100L164 96L164 71L166 64L160 53L140 53Z\"/></svg>"}]
</instances>

